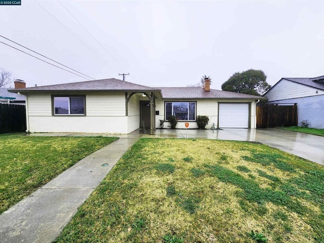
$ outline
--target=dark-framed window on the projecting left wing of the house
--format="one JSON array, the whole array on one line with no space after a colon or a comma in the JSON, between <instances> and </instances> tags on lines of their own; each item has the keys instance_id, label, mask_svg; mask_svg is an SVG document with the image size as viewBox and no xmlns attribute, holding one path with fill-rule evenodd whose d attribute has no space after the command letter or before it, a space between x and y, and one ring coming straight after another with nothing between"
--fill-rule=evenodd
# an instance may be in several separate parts
<instances>
[{"instance_id":1,"label":"dark-framed window on the projecting left wing of the house","mask_svg":"<svg viewBox=\"0 0 324 243\"><path fill-rule=\"evenodd\" d=\"M85 96L54 96L54 115L85 115Z\"/></svg>"}]
</instances>

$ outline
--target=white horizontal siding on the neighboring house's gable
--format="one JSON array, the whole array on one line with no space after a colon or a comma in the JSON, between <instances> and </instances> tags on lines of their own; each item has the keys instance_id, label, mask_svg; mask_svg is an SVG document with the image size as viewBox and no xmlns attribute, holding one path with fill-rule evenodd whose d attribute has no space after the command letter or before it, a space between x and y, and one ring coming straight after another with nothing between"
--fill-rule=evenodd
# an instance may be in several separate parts
<instances>
[{"instance_id":1,"label":"white horizontal siding on the neighboring house's gable","mask_svg":"<svg viewBox=\"0 0 324 243\"><path fill-rule=\"evenodd\" d=\"M318 91L316 93L316 91ZM309 97L316 95L323 95L324 91L317 90L305 85L297 84L292 81L282 79L275 87L273 87L265 97L269 101L288 100L300 97Z\"/></svg>"}]
</instances>

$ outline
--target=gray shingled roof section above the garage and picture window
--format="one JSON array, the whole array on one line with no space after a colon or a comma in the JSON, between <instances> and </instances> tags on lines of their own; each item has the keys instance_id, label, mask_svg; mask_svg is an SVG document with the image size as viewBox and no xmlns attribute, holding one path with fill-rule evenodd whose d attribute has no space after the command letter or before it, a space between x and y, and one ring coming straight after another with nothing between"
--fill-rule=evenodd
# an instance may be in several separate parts
<instances>
[{"instance_id":1,"label":"gray shingled roof section above the garage and picture window","mask_svg":"<svg viewBox=\"0 0 324 243\"><path fill-rule=\"evenodd\" d=\"M206 92L200 87L158 87L164 99L265 99L261 96L239 94L222 90Z\"/></svg>"}]
</instances>

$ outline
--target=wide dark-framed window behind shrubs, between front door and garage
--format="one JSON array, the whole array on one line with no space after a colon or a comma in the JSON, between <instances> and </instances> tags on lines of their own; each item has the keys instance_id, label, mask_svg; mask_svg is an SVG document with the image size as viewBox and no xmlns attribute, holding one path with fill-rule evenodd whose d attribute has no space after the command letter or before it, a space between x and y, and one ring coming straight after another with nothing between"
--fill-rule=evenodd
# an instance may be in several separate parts
<instances>
[{"instance_id":1,"label":"wide dark-framed window behind shrubs, between front door and garage","mask_svg":"<svg viewBox=\"0 0 324 243\"><path fill-rule=\"evenodd\" d=\"M196 119L196 102L166 102L166 120L175 115L178 120Z\"/></svg>"}]
</instances>

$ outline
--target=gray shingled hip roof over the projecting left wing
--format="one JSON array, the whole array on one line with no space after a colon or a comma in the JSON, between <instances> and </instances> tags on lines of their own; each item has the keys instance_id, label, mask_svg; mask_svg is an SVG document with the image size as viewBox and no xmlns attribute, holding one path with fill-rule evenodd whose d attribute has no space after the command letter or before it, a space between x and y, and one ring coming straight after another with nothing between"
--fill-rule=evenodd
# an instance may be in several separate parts
<instances>
[{"instance_id":1,"label":"gray shingled hip roof over the projecting left wing","mask_svg":"<svg viewBox=\"0 0 324 243\"><path fill-rule=\"evenodd\" d=\"M108 78L100 80L92 80L85 82L60 84L60 85L48 85L48 86L37 86L24 89L16 89L11 92L28 93L34 91L158 91L155 88L137 85L123 80Z\"/></svg>"}]
</instances>

